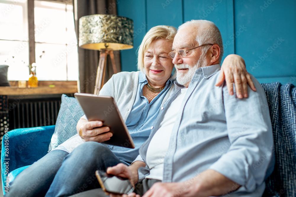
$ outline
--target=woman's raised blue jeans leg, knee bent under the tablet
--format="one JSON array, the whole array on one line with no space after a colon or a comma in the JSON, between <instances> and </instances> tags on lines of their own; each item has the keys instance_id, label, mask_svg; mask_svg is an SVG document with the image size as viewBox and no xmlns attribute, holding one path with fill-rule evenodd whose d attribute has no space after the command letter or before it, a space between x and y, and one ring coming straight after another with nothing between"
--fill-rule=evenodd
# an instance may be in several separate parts
<instances>
[{"instance_id":1,"label":"woman's raised blue jeans leg, knee bent under the tablet","mask_svg":"<svg viewBox=\"0 0 296 197\"><path fill-rule=\"evenodd\" d=\"M65 157L46 197L70 196L82 191L100 188L96 170L107 170L121 161L106 146L85 142Z\"/></svg>"}]
</instances>

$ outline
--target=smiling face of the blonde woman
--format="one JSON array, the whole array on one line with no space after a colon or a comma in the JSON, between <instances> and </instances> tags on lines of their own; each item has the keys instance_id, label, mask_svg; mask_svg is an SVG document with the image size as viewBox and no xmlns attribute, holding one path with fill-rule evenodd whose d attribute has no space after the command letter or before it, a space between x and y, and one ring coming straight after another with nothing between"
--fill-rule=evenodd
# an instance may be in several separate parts
<instances>
[{"instance_id":1,"label":"smiling face of the blonde woman","mask_svg":"<svg viewBox=\"0 0 296 197\"><path fill-rule=\"evenodd\" d=\"M144 52L144 69L149 84L163 86L170 78L174 64L168 53L172 51L172 45L168 40L157 39Z\"/></svg>"}]
</instances>

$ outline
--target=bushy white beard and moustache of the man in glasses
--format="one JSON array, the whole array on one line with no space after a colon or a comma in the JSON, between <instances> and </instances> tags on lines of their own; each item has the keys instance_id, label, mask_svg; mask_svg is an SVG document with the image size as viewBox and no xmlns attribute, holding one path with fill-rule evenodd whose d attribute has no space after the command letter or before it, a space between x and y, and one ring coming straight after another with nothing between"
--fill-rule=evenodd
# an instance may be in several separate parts
<instances>
[{"instance_id":1,"label":"bushy white beard and moustache of the man in glasses","mask_svg":"<svg viewBox=\"0 0 296 197\"><path fill-rule=\"evenodd\" d=\"M177 82L181 85L188 84L192 77L194 76L195 71L200 68L207 66L206 57L202 56L194 66L189 66L188 64L175 64L176 69L188 69L188 72L181 73L177 71Z\"/></svg>"}]
</instances>

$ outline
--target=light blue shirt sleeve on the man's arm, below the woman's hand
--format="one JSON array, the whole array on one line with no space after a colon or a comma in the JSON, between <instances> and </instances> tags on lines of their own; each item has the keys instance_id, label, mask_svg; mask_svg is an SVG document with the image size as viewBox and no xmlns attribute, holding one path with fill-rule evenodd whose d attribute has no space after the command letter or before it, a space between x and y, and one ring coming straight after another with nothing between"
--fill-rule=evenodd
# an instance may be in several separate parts
<instances>
[{"instance_id":1,"label":"light blue shirt sleeve on the man's arm, below the woman's hand","mask_svg":"<svg viewBox=\"0 0 296 197\"><path fill-rule=\"evenodd\" d=\"M273 137L266 95L252 77L256 92L248 87L249 98L230 96L223 87L223 104L227 132L231 143L210 169L254 191L262 185L268 167L272 166ZM234 93L235 95L235 93Z\"/></svg>"}]
</instances>

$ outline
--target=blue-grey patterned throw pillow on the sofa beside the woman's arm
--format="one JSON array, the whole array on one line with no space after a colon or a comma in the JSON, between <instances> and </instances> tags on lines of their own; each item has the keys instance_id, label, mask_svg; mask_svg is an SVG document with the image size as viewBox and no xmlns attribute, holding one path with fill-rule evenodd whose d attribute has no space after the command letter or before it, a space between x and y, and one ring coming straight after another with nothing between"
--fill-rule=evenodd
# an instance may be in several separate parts
<instances>
[{"instance_id":1,"label":"blue-grey patterned throw pillow on the sofa beside the woman's arm","mask_svg":"<svg viewBox=\"0 0 296 197\"><path fill-rule=\"evenodd\" d=\"M76 125L83 114L76 98L62 95L61 108L59 109L48 152L77 133Z\"/></svg>"}]
</instances>

